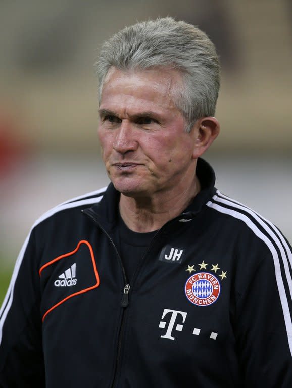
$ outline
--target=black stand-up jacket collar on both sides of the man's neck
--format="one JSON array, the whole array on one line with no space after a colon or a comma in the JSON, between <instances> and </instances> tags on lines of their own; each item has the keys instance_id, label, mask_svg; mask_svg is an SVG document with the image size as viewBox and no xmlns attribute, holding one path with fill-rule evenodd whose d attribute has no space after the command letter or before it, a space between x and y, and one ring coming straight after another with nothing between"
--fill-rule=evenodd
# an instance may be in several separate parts
<instances>
[{"instance_id":1,"label":"black stand-up jacket collar on both sides of the man's neck","mask_svg":"<svg viewBox=\"0 0 292 388\"><path fill-rule=\"evenodd\" d=\"M196 174L201 184L201 191L194 197L185 211L177 217L178 220L192 219L194 215L201 211L203 206L211 199L216 191L215 172L210 164L202 158L198 159ZM108 230L113 229L117 224L119 200L120 192L114 188L112 183L110 183L102 200L90 208L99 222Z\"/></svg>"}]
</instances>

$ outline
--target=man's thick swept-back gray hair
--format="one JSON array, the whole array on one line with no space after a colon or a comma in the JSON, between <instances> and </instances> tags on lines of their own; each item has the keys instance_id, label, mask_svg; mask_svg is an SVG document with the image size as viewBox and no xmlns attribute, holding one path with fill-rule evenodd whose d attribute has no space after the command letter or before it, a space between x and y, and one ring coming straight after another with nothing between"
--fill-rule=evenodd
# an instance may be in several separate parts
<instances>
[{"instance_id":1,"label":"man's thick swept-back gray hair","mask_svg":"<svg viewBox=\"0 0 292 388\"><path fill-rule=\"evenodd\" d=\"M111 67L121 71L150 68L177 69L183 87L174 96L187 131L201 117L214 116L220 87L220 64L216 49L205 32L171 17L126 27L107 40L95 64L99 100Z\"/></svg>"}]
</instances>

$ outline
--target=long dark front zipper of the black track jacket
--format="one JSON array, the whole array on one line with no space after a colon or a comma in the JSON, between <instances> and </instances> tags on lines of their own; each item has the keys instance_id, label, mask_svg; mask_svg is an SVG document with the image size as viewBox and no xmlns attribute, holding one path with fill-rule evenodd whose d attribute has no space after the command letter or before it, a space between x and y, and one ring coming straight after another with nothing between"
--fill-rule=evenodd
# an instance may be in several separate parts
<instances>
[{"instance_id":1,"label":"long dark front zipper of the black track jacket","mask_svg":"<svg viewBox=\"0 0 292 388\"><path fill-rule=\"evenodd\" d=\"M116 255L120 261L120 265L122 268L123 272L123 278L124 278L124 290L123 290L123 296L121 300L121 307L123 307L122 310L122 317L121 317L121 325L120 325L120 331L119 331L119 337L118 337L118 350L117 350L117 358L116 358L116 363L115 363L115 370L114 370L114 377L113 377L113 382L111 384L111 388L114 388L117 382L117 374L120 366L120 357L121 357L121 349L122 349L122 340L123 340L123 334L124 334L124 327L125 327L125 309L129 305L129 291L130 291L130 284L127 281L126 277L126 271L122 262L122 259L120 257L120 254L115 246L114 241L112 240L111 236L108 234L108 232L102 227L102 225L99 223L98 219L96 219L94 212L91 211L91 209L84 209L81 210L83 214L87 215L90 217L93 222L98 225L102 231L105 233L105 235L108 237L108 239L111 241L112 246L114 247L114 250L116 252Z\"/></svg>"}]
</instances>

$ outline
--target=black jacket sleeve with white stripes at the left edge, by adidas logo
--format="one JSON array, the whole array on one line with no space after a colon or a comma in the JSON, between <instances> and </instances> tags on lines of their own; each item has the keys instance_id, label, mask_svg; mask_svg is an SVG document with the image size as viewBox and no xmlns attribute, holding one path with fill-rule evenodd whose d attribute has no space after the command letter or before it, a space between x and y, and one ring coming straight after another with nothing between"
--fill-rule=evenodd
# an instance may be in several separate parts
<instances>
[{"instance_id":1,"label":"black jacket sleeve with white stripes at the left edge, by adidas logo","mask_svg":"<svg viewBox=\"0 0 292 388\"><path fill-rule=\"evenodd\" d=\"M44 387L40 284L34 232L17 259L0 310L0 387Z\"/></svg>"}]
</instances>

